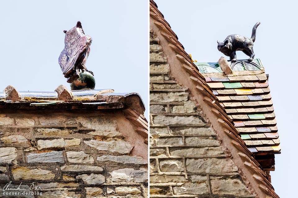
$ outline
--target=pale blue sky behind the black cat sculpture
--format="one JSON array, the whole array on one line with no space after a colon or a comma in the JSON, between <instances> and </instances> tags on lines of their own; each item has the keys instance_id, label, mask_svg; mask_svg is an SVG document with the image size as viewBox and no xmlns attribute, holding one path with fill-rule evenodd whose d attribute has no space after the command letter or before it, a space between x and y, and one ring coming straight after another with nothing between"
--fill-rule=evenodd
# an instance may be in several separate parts
<instances>
[{"instance_id":1,"label":"pale blue sky behind the black cat sculpture","mask_svg":"<svg viewBox=\"0 0 298 198\"><path fill-rule=\"evenodd\" d=\"M230 34L251 37L252 27L261 22L254 52L270 76L269 87L282 149L282 154L275 155L272 184L280 197L296 197L297 3L287 0L155 2L186 52L198 62L217 62L224 56L217 50L217 40L223 41ZM248 57L237 52L237 58Z\"/></svg>"}]
</instances>

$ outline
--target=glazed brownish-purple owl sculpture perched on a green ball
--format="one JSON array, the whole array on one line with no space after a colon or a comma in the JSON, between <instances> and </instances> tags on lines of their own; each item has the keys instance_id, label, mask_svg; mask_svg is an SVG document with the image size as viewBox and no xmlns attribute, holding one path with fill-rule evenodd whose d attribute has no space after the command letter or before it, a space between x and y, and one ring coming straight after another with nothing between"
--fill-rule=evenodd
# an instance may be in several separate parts
<instances>
[{"instance_id":1,"label":"glazed brownish-purple owl sculpture perched on a green ball","mask_svg":"<svg viewBox=\"0 0 298 198\"><path fill-rule=\"evenodd\" d=\"M67 78L68 83L72 83L79 79L79 72L90 72L86 68L86 60L90 52L90 44L92 38L85 35L80 21L70 30L63 31L65 33L65 46L62 50L58 62L63 71L63 75Z\"/></svg>"}]
</instances>

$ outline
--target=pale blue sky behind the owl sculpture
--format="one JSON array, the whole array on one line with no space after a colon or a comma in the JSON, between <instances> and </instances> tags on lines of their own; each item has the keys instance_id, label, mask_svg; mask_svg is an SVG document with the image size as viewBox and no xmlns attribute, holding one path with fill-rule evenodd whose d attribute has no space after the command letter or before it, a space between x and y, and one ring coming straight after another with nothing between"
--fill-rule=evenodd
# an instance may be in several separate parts
<instances>
[{"instance_id":1,"label":"pale blue sky behind the owl sculpture","mask_svg":"<svg viewBox=\"0 0 298 198\"><path fill-rule=\"evenodd\" d=\"M137 92L148 104L148 2L1 1L0 91L54 91L66 83L58 57L63 30L81 21L92 37L86 62L96 89ZM146 111L147 112L147 111Z\"/></svg>"}]
</instances>

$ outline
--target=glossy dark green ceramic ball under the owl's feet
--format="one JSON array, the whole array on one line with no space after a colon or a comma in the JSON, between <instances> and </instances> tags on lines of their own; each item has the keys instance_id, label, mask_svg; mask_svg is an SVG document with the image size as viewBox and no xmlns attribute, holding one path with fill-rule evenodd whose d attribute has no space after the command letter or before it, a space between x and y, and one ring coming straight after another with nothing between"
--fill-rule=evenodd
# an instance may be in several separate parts
<instances>
[{"instance_id":1,"label":"glossy dark green ceramic ball under the owl's feet","mask_svg":"<svg viewBox=\"0 0 298 198\"><path fill-rule=\"evenodd\" d=\"M70 84L71 90L80 90L80 89L94 89L95 88L95 79L94 76L88 72L79 72L79 79L75 80Z\"/></svg>"}]
</instances>

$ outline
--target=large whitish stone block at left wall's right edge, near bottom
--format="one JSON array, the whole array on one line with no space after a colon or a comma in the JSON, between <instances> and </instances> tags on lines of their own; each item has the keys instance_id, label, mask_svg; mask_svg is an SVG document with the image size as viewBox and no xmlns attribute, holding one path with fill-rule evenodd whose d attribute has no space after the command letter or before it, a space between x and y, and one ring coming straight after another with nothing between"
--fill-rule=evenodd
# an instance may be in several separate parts
<instances>
[{"instance_id":1,"label":"large whitish stone block at left wall's right edge, near bottom","mask_svg":"<svg viewBox=\"0 0 298 198\"><path fill-rule=\"evenodd\" d=\"M111 180L113 182L147 182L148 170L147 168L140 168L134 170L133 168L122 168L110 172Z\"/></svg>"}]
</instances>

